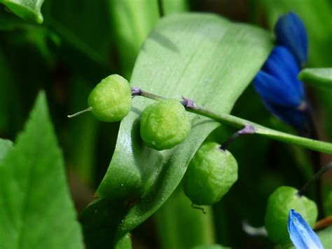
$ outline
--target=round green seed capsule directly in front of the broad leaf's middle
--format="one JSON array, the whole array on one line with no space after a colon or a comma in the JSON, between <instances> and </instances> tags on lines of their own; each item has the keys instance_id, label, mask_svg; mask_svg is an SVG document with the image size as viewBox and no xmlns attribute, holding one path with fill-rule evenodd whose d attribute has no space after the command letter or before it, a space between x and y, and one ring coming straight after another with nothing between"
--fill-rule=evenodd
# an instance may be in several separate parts
<instances>
[{"instance_id":1,"label":"round green seed capsule directly in front of the broad leaf's middle","mask_svg":"<svg viewBox=\"0 0 332 249\"><path fill-rule=\"evenodd\" d=\"M141 138L153 149L170 149L191 131L186 109L177 100L149 105L141 112Z\"/></svg>"}]
</instances>

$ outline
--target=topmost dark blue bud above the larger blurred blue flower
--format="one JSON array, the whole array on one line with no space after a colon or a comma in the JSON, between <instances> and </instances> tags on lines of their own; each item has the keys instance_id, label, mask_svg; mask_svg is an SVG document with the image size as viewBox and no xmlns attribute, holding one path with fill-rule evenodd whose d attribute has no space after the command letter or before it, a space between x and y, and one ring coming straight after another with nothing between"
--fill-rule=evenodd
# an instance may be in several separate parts
<instances>
[{"instance_id":1,"label":"topmost dark blue bud above the larger blurred blue flower","mask_svg":"<svg viewBox=\"0 0 332 249\"><path fill-rule=\"evenodd\" d=\"M307 32L302 20L293 12L281 15L275 24L279 45L289 48L299 66L307 62Z\"/></svg>"}]
</instances>

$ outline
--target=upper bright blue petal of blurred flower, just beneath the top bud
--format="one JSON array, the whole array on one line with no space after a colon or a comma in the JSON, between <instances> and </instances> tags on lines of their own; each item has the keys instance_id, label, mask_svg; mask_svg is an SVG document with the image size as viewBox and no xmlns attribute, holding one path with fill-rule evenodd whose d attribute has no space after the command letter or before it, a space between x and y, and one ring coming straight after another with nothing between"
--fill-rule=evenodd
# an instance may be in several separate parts
<instances>
[{"instance_id":1,"label":"upper bright blue petal of blurred flower, just beneath the top bud","mask_svg":"<svg viewBox=\"0 0 332 249\"><path fill-rule=\"evenodd\" d=\"M287 48L276 46L262 70L282 81L284 88L303 100L305 95L303 83L298 80L300 68Z\"/></svg>"}]
</instances>

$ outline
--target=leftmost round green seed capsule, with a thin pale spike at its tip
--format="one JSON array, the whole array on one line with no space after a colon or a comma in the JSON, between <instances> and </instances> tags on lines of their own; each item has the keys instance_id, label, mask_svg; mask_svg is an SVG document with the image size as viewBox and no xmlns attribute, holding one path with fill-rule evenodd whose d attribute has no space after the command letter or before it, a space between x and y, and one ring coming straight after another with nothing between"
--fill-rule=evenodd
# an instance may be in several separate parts
<instances>
[{"instance_id":1,"label":"leftmost round green seed capsule, with a thin pale spike at its tip","mask_svg":"<svg viewBox=\"0 0 332 249\"><path fill-rule=\"evenodd\" d=\"M120 121L132 107L128 81L118 74L107 76L90 93L88 105L92 114L100 121Z\"/></svg>"}]
</instances>

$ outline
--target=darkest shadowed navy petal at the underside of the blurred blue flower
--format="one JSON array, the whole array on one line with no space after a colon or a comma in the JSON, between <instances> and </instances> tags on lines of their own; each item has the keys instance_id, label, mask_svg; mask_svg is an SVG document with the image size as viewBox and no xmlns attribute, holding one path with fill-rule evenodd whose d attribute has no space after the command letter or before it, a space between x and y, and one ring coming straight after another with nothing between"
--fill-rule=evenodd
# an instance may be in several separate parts
<instances>
[{"instance_id":1,"label":"darkest shadowed navy petal at the underside of the blurred blue flower","mask_svg":"<svg viewBox=\"0 0 332 249\"><path fill-rule=\"evenodd\" d=\"M277 116L284 123L289 124L297 128L298 130L304 130L307 127L307 114L305 111L292 109L289 107L280 107L278 105L273 105L270 102L263 101L266 109L268 109L272 114Z\"/></svg>"}]
</instances>

